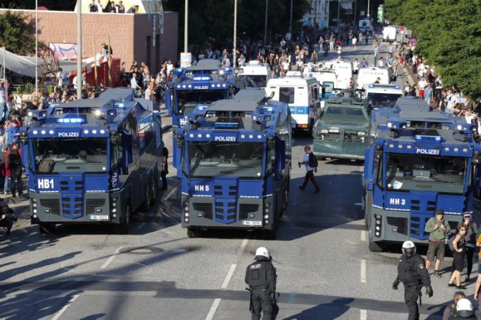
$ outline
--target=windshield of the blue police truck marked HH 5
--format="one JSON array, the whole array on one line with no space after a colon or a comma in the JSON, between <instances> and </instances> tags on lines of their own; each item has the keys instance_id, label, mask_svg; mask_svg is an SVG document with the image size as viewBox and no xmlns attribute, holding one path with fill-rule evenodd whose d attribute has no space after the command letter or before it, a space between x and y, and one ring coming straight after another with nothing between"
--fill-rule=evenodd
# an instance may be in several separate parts
<instances>
[{"instance_id":1,"label":"windshield of the blue police truck marked HH 5","mask_svg":"<svg viewBox=\"0 0 481 320\"><path fill-rule=\"evenodd\" d=\"M190 176L261 178L261 142L189 142Z\"/></svg>"}]
</instances>

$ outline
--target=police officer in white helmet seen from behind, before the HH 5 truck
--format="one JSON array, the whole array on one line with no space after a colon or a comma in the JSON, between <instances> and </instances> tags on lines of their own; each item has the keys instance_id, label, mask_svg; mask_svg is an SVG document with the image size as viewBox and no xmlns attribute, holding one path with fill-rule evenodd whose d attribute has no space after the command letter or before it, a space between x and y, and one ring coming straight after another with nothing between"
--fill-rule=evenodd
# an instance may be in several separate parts
<instances>
[{"instance_id":1,"label":"police officer in white helmet seen from behind, before the HH 5 truck","mask_svg":"<svg viewBox=\"0 0 481 320\"><path fill-rule=\"evenodd\" d=\"M277 280L275 267L271 263L271 256L267 248L258 248L254 260L254 263L247 266L245 271L245 283L249 284L251 291L249 310L252 312L253 320L260 319L261 310L262 319L271 320Z\"/></svg>"}]
</instances>

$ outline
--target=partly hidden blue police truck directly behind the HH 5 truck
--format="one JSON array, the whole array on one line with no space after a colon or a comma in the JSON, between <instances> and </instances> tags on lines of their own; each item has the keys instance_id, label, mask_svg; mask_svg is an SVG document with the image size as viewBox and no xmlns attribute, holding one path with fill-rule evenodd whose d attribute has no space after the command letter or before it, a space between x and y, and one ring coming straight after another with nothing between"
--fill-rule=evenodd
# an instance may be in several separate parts
<instances>
[{"instance_id":1,"label":"partly hidden blue police truck directly behind the HH 5 truck","mask_svg":"<svg viewBox=\"0 0 481 320\"><path fill-rule=\"evenodd\" d=\"M228 99L236 92L234 68L222 68L217 59L202 59L195 66L176 69L165 92L165 107L175 129L186 124L199 103ZM173 159L180 156L173 137ZM180 177L180 172L177 172Z\"/></svg>"}]
</instances>

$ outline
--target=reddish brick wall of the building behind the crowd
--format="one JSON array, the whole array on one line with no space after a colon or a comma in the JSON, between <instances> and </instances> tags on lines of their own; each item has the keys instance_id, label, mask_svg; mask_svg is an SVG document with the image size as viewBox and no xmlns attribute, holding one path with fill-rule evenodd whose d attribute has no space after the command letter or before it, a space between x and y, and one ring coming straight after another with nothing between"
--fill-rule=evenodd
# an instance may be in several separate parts
<instances>
[{"instance_id":1,"label":"reddish brick wall of the building behind the crowd","mask_svg":"<svg viewBox=\"0 0 481 320\"><path fill-rule=\"evenodd\" d=\"M32 20L35 10L22 10ZM0 9L0 14L5 12ZM177 60L177 18L176 12L164 13L164 35L160 35L160 57ZM158 23L158 18L156 19ZM132 60L140 64L147 59L147 37L152 36L153 18L149 14L82 14L82 57L93 56L93 42L96 51L101 51L101 43L108 42L114 57L121 58L127 68ZM158 31L157 31L158 34ZM38 11L38 40L49 43L77 43L77 14L75 12ZM162 43L162 41L164 43ZM158 45L158 44L157 44ZM151 47L151 62L147 62L152 70L155 64L156 50ZM159 59L159 58L158 58ZM161 61L161 60L160 60Z\"/></svg>"}]
</instances>

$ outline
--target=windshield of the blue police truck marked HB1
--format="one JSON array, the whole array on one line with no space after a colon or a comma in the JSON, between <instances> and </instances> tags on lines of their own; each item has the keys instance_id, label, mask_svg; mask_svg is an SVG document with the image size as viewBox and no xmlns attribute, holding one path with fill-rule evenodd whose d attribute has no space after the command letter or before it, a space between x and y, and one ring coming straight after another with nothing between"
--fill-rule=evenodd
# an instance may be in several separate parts
<instances>
[{"instance_id":1,"label":"windshield of the blue police truck marked HB1","mask_svg":"<svg viewBox=\"0 0 481 320\"><path fill-rule=\"evenodd\" d=\"M39 138L32 144L37 172L106 172L107 138Z\"/></svg>"}]
</instances>

